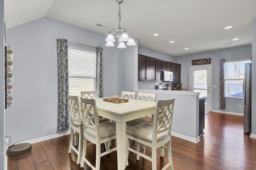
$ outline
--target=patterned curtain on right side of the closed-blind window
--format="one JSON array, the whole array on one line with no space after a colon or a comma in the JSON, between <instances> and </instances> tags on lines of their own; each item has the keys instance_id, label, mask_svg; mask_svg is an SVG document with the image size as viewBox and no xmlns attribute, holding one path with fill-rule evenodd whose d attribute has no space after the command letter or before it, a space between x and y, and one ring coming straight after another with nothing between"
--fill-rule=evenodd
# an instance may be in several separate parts
<instances>
[{"instance_id":1,"label":"patterned curtain on right side of the closed-blind window","mask_svg":"<svg viewBox=\"0 0 256 170\"><path fill-rule=\"evenodd\" d=\"M96 47L96 90L99 98L103 97L103 54L102 47Z\"/></svg>"}]
</instances>

